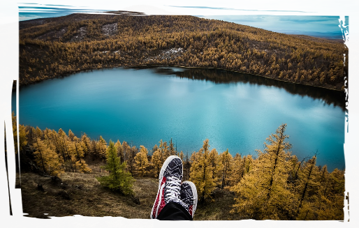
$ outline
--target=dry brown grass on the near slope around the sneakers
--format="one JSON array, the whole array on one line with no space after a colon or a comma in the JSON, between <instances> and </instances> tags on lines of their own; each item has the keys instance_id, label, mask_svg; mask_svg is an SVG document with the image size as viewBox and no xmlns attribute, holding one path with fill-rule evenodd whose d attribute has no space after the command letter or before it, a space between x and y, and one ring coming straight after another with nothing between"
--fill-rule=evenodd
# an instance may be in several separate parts
<instances>
[{"instance_id":1,"label":"dry brown grass on the near slope around the sneakers","mask_svg":"<svg viewBox=\"0 0 359 228\"><path fill-rule=\"evenodd\" d=\"M34 173L0 169L0 227L153 227L149 213L156 197L155 178L137 178L133 197L103 188L98 164L92 174L64 173L61 181ZM45 192L38 190L42 184ZM199 205L196 227L244 227L229 213L233 195L222 192Z\"/></svg>"}]
</instances>

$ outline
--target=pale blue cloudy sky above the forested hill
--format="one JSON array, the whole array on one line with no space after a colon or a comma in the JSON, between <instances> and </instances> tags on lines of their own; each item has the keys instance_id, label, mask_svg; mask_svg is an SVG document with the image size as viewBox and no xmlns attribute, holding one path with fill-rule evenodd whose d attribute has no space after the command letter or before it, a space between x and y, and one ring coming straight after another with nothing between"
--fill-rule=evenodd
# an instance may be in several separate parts
<instances>
[{"instance_id":1,"label":"pale blue cloudy sky above the forested hill","mask_svg":"<svg viewBox=\"0 0 359 228\"><path fill-rule=\"evenodd\" d=\"M139 4L277 32L359 32L359 0L0 0L0 24Z\"/></svg>"}]
</instances>

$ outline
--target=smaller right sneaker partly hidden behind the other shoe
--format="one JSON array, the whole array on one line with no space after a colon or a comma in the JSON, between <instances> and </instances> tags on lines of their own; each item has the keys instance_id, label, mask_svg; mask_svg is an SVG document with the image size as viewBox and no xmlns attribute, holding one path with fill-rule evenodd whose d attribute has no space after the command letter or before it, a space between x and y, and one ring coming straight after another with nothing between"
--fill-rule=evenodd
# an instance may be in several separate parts
<instances>
[{"instance_id":1,"label":"smaller right sneaker partly hidden behind the other shoe","mask_svg":"<svg viewBox=\"0 0 359 228\"><path fill-rule=\"evenodd\" d=\"M183 202L182 206L193 218L198 202L196 185L194 185L191 181L183 181L181 185L180 199Z\"/></svg>"}]
</instances>

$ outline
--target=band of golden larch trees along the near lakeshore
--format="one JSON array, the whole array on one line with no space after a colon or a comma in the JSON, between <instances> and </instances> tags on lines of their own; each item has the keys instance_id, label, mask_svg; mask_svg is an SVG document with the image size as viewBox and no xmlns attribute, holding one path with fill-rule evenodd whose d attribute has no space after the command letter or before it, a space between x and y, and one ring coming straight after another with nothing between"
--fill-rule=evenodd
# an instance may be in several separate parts
<instances>
[{"instance_id":1,"label":"band of golden larch trees along the near lakeshore","mask_svg":"<svg viewBox=\"0 0 359 228\"><path fill-rule=\"evenodd\" d=\"M25 127L17 123L14 113L7 114L9 109L6 102L0 104L3 167L25 165L56 179L65 173L90 175L88 162L106 161L98 181L104 188L133 197L135 179L158 177L164 160L178 155L184 180L197 187L199 204L214 204L221 200L215 194L227 192L233 204L225 208L233 218L246 218L248 227L359 226L359 163L351 172L328 172L326 165L316 165L316 155L299 160L290 151L286 124L266 139L265 149L257 150L256 157L210 149L208 139L198 151L184 155L176 151L172 139L161 139L152 149L138 149L119 140L90 139L85 133L76 136L71 130L66 134L61 129ZM27 162L22 161L24 157ZM239 225L235 220L228 224Z\"/></svg>"}]
</instances>

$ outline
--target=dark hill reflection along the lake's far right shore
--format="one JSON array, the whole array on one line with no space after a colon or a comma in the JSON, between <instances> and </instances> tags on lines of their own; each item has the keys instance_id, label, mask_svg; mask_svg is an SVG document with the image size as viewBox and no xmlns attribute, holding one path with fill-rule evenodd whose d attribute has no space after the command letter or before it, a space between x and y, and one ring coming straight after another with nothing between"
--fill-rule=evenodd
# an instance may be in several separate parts
<instances>
[{"instance_id":1,"label":"dark hill reflection along the lake's far right shore","mask_svg":"<svg viewBox=\"0 0 359 228\"><path fill-rule=\"evenodd\" d=\"M136 67L141 68L141 67ZM148 68L148 67L146 67ZM161 67L154 68L156 73L165 75L177 75L177 77L188 79L207 80L214 83L235 83L257 84L265 86L276 86L285 89L288 93L300 96L309 96L309 98L319 99L327 105L341 107L343 111L359 113L359 95L354 93L344 93L315 86L306 86L291 82L282 82L257 75L237 73L228 70L205 69L205 68L178 68Z\"/></svg>"}]
</instances>

